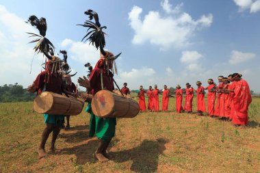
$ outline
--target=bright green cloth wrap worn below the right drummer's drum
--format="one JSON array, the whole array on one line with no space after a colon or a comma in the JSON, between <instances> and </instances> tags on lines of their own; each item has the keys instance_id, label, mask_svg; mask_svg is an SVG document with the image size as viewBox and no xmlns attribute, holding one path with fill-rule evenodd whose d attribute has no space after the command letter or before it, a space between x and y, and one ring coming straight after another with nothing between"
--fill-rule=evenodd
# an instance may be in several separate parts
<instances>
[{"instance_id":1,"label":"bright green cloth wrap worn below the right drummer's drum","mask_svg":"<svg viewBox=\"0 0 260 173\"><path fill-rule=\"evenodd\" d=\"M94 134L96 133L96 137L102 139L103 142L107 142L114 137L115 131L116 118L99 118L93 114L93 111L91 112L90 137L94 137Z\"/></svg>"}]
</instances>

